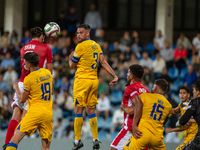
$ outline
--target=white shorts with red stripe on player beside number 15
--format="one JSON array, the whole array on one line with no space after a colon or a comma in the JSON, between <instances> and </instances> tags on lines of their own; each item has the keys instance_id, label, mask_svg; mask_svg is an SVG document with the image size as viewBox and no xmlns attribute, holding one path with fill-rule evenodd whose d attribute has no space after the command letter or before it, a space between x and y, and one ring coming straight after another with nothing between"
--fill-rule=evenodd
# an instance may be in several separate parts
<instances>
[{"instance_id":1,"label":"white shorts with red stripe on player beside number 15","mask_svg":"<svg viewBox=\"0 0 200 150\"><path fill-rule=\"evenodd\" d=\"M131 138L132 133L128 130L121 129L121 131L117 134L116 138L111 143L111 147L116 148L117 150L123 150L125 144Z\"/></svg>"}]
</instances>

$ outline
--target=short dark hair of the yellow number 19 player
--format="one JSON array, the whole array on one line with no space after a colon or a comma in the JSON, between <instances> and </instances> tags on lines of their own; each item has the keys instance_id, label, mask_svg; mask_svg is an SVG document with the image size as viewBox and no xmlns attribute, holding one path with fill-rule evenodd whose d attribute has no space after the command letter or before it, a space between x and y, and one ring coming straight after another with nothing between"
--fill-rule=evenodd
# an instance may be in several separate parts
<instances>
[{"instance_id":1,"label":"short dark hair of the yellow number 19 player","mask_svg":"<svg viewBox=\"0 0 200 150\"><path fill-rule=\"evenodd\" d=\"M40 56L35 52L27 52L23 55L23 59L28 61L33 67L37 67L40 61Z\"/></svg>"}]
</instances>

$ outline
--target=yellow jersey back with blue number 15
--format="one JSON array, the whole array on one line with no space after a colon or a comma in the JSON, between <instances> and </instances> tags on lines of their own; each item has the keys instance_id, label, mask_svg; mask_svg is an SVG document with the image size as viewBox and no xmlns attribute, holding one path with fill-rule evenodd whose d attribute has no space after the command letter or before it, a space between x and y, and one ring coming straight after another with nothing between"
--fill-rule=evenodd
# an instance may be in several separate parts
<instances>
[{"instance_id":1,"label":"yellow jersey back with blue number 15","mask_svg":"<svg viewBox=\"0 0 200 150\"><path fill-rule=\"evenodd\" d=\"M169 117L172 106L169 101L157 93L142 93L142 116L139 126L147 128L152 134L163 136L164 122Z\"/></svg>"}]
</instances>

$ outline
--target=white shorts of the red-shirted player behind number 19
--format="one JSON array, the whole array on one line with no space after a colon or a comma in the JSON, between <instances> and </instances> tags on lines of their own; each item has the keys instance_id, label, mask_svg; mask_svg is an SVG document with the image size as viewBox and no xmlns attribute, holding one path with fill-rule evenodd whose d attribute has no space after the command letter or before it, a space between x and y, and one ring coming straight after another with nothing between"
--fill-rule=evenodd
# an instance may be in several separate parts
<instances>
[{"instance_id":1,"label":"white shorts of the red-shirted player behind number 19","mask_svg":"<svg viewBox=\"0 0 200 150\"><path fill-rule=\"evenodd\" d=\"M22 93L22 91L23 91L23 82L18 82L18 87L19 87L20 92ZM15 95L13 97L13 102L11 104L11 107L14 108L14 106L17 105L21 110L23 110L23 109L27 110L27 104L28 104L28 100L26 100L25 103L21 103L19 101L17 93L15 92Z\"/></svg>"}]
</instances>

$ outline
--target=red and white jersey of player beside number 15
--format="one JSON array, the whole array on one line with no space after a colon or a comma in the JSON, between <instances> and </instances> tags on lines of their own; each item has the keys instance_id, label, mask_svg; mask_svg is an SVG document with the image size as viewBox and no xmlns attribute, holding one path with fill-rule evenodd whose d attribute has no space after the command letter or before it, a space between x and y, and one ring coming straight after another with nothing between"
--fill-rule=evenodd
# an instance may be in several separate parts
<instances>
[{"instance_id":1,"label":"red and white jersey of player beside number 15","mask_svg":"<svg viewBox=\"0 0 200 150\"><path fill-rule=\"evenodd\" d=\"M142 93L150 93L149 90L142 85L140 82L134 82L125 88L123 96L124 106L132 106L132 99L135 95L140 95ZM132 131L133 115L128 115L124 113L124 129Z\"/></svg>"}]
</instances>

